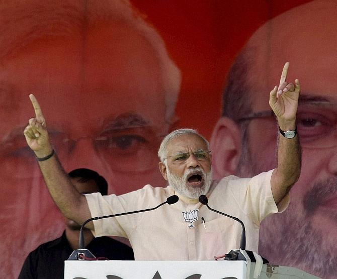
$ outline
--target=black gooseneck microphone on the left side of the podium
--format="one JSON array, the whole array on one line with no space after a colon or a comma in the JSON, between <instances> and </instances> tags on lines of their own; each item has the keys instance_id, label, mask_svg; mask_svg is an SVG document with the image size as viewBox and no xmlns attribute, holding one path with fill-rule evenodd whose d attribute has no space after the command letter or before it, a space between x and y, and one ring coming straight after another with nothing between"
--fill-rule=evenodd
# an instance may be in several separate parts
<instances>
[{"instance_id":1,"label":"black gooseneck microphone on the left side of the podium","mask_svg":"<svg viewBox=\"0 0 337 279\"><path fill-rule=\"evenodd\" d=\"M84 243L84 238L83 238L83 229L86 226L87 223L94 221L94 220L100 220L104 218L110 218L110 217L117 217L117 216L122 216L122 215L129 215L129 214L134 214L134 213L140 213L140 212L145 212L145 211L151 211L155 210L158 207L161 207L164 204L168 205L173 205L179 201L179 197L177 195L170 196L166 199L166 202L161 203L160 205L157 205L156 207L153 208L148 208L148 209L142 209L142 210L136 210L136 211L130 211L130 212L123 212L123 213L118 213L118 214L112 214L112 215L106 215L106 216L98 216L98 217L93 217L81 225L81 228L79 230L79 249L73 251L71 255L69 256L68 260L83 260L83 259L89 259L89 258L96 258L88 249L85 249L85 243Z\"/></svg>"}]
</instances>

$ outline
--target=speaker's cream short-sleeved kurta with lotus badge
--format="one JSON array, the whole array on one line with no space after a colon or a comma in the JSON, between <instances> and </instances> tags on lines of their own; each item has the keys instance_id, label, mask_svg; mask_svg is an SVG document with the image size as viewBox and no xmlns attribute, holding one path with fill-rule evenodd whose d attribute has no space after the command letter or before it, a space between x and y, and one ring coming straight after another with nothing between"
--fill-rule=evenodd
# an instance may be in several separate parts
<instances>
[{"instance_id":1,"label":"speaker's cream short-sleeved kurta with lotus badge","mask_svg":"<svg viewBox=\"0 0 337 279\"><path fill-rule=\"evenodd\" d=\"M252 178L227 176L213 182L208 205L239 218L246 229L246 249L258 251L260 222L277 213L270 179L272 170ZM93 217L153 208L175 195L171 186L143 189L121 196L86 195ZM287 204L287 200L282 203ZM199 209L194 228L185 222L182 212ZM284 208L283 208L284 209ZM204 228L201 218L205 220ZM95 236L114 235L130 240L136 260L210 260L214 256L238 249L241 225L228 217L210 211L201 203L173 205L149 212L94 221Z\"/></svg>"}]
</instances>

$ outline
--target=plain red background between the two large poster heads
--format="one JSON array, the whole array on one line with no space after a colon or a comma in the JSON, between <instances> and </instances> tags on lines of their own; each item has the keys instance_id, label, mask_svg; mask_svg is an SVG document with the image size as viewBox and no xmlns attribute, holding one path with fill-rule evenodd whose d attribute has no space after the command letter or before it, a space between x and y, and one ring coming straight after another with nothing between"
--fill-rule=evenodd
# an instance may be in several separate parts
<instances>
[{"instance_id":1,"label":"plain red background between the two large poster heads","mask_svg":"<svg viewBox=\"0 0 337 279\"><path fill-rule=\"evenodd\" d=\"M263 23L306 2L155 1L149 5L148 1L132 1L160 32L182 70L177 126L195 127L210 137L221 113L223 84L234 57Z\"/></svg>"}]
</instances>

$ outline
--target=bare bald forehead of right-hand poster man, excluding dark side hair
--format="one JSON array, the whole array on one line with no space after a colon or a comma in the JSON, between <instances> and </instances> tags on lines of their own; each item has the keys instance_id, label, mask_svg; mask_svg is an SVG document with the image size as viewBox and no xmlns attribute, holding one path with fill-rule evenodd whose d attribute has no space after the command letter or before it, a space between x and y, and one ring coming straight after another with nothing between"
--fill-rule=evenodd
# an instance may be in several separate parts
<instances>
[{"instance_id":1,"label":"bare bald forehead of right-hand poster man, excluding dark side hair","mask_svg":"<svg viewBox=\"0 0 337 279\"><path fill-rule=\"evenodd\" d=\"M289 79L298 77L304 81L302 91L312 90L310 80L323 81L334 75L336 35L337 2L333 0L313 1L270 20L246 45L251 61L249 84L264 91L273 88L277 69L290 61Z\"/></svg>"}]
</instances>

